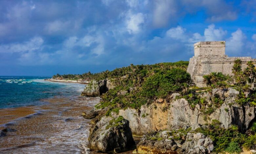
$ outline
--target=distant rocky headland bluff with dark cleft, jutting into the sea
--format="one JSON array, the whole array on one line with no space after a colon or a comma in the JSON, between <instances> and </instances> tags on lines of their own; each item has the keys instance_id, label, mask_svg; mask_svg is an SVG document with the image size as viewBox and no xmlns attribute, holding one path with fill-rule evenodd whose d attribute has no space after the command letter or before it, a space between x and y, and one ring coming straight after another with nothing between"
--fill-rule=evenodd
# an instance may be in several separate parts
<instances>
[{"instance_id":1,"label":"distant rocky headland bluff with dark cleft, jutting into the sea","mask_svg":"<svg viewBox=\"0 0 256 154\"><path fill-rule=\"evenodd\" d=\"M90 83L84 88L81 96L96 97L106 93L108 90L113 89L114 83L111 80L104 79L96 82L95 80L90 81Z\"/></svg>"}]
</instances>

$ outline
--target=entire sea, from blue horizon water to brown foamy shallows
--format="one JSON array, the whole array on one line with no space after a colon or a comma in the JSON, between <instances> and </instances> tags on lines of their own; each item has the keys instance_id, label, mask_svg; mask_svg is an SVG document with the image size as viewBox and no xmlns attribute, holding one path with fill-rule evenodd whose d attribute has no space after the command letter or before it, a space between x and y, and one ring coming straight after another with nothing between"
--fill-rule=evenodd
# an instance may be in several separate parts
<instances>
[{"instance_id":1,"label":"entire sea, from blue horizon water to brown foamy shallows","mask_svg":"<svg viewBox=\"0 0 256 154\"><path fill-rule=\"evenodd\" d=\"M0 76L0 154L90 153L90 121L81 115L99 97L80 96L85 84L48 78Z\"/></svg>"}]
</instances>

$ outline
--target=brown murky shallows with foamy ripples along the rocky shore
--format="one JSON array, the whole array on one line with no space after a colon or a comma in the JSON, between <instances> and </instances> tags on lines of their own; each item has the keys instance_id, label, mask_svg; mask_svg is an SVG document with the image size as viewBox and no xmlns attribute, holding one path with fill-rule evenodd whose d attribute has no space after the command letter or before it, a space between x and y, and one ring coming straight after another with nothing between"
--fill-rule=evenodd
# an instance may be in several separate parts
<instances>
[{"instance_id":1,"label":"brown murky shallows with foamy ripples along the rocky shore","mask_svg":"<svg viewBox=\"0 0 256 154\"><path fill-rule=\"evenodd\" d=\"M88 153L89 120L80 115L99 98L44 101L49 105L1 109L1 124L7 123L1 127L16 131L0 138L0 153Z\"/></svg>"}]
</instances>

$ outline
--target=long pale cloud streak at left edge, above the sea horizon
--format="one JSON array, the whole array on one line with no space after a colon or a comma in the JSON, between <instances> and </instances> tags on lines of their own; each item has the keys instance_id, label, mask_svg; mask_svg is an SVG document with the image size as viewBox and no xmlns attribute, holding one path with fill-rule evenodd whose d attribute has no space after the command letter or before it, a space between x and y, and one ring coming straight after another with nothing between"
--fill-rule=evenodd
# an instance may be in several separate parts
<instances>
[{"instance_id":1,"label":"long pale cloud streak at left edge, above the sea horizon","mask_svg":"<svg viewBox=\"0 0 256 154\"><path fill-rule=\"evenodd\" d=\"M34 37L30 41L23 43L11 43L0 46L0 52L13 53L13 52L26 52L39 50L42 47L44 40L41 37Z\"/></svg>"}]
</instances>

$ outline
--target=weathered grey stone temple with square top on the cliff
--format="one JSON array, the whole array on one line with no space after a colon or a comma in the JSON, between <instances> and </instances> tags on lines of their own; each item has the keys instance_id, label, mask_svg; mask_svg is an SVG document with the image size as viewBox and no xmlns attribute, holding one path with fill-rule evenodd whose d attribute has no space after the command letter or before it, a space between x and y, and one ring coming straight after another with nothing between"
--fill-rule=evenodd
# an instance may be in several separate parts
<instances>
[{"instance_id":1,"label":"weathered grey stone temple with square top on the cliff","mask_svg":"<svg viewBox=\"0 0 256 154\"><path fill-rule=\"evenodd\" d=\"M236 59L241 59L242 69L247 61L256 62L251 57L228 57L225 55L225 41L197 42L194 44L195 55L189 59L187 72L197 87L206 87L203 75L211 72L222 72L233 75L232 67Z\"/></svg>"}]
</instances>

